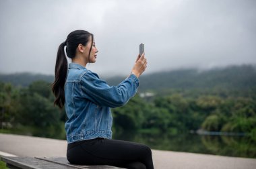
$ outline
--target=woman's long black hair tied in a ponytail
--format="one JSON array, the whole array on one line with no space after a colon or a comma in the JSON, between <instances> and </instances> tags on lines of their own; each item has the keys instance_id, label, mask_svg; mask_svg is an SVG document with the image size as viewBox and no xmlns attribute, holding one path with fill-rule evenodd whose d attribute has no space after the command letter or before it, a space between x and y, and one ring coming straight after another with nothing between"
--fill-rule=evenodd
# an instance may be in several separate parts
<instances>
[{"instance_id":1,"label":"woman's long black hair tied in a ponytail","mask_svg":"<svg viewBox=\"0 0 256 169\"><path fill-rule=\"evenodd\" d=\"M64 47L66 46L67 57L74 58L77 46L82 44L86 46L88 41L92 37L92 41L94 40L93 34L84 30L75 30L71 32L67 36L67 40L61 43L57 52L57 59L55 65L55 81L52 84L53 94L55 95L54 105L59 106L59 108L63 108L65 104L65 93L64 93L64 85L67 77L67 58L65 56ZM92 45L89 51L89 60L90 53L92 50Z\"/></svg>"}]
</instances>

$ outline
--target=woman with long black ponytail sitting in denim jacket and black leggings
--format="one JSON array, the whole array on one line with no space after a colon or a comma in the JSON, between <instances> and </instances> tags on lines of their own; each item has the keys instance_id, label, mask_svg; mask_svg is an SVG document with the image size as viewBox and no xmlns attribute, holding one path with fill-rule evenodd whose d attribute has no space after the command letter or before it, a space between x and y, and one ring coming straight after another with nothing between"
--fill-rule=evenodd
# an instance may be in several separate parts
<instances>
[{"instance_id":1,"label":"woman with long black ponytail sitting in denim jacket and black leggings","mask_svg":"<svg viewBox=\"0 0 256 169\"><path fill-rule=\"evenodd\" d=\"M67 66L64 48L72 62ZM55 105L63 108L68 120L67 160L71 164L111 165L123 168L154 168L147 146L111 139L111 107L125 105L137 92L138 77L146 69L144 54L137 57L131 74L116 87L110 87L86 68L96 62L93 34L76 30L59 46L53 93Z\"/></svg>"}]
</instances>

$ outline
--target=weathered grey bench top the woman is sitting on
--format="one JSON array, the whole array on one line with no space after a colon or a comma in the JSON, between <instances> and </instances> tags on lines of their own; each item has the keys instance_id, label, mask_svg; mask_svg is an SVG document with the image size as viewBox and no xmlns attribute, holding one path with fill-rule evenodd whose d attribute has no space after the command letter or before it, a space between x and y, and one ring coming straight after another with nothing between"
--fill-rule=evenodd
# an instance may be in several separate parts
<instances>
[{"instance_id":1,"label":"weathered grey bench top the woman is sitting on","mask_svg":"<svg viewBox=\"0 0 256 169\"><path fill-rule=\"evenodd\" d=\"M31 158L31 157L6 157L2 156L1 161L6 163L6 166L10 169L74 169L74 168L92 168L92 169L117 169L115 166L82 166L73 165L67 161L67 158L57 157L57 158Z\"/></svg>"}]
</instances>

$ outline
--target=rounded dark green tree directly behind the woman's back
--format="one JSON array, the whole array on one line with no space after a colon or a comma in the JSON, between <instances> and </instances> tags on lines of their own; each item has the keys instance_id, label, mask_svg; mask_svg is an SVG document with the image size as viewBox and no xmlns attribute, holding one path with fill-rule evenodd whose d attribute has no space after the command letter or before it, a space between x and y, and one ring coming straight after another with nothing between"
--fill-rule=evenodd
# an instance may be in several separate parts
<instances>
[{"instance_id":1,"label":"rounded dark green tree directly behind the woman's back","mask_svg":"<svg viewBox=\"0 0 256 169\"><path fill-rule=\"evenodd\" d=\"M49 86L47 82L36 81L22 90L22 107L18 110L16 122L32 135L65 138L61 122L63 111L54 107Z\"/></svg>"}]
</instances>

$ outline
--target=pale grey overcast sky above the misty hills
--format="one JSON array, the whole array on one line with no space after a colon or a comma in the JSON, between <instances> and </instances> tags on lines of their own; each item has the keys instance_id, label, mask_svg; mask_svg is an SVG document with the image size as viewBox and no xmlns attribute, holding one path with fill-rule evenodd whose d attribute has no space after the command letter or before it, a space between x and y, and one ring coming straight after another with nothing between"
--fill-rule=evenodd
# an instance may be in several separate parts
<instances>
[{"instance_id":1,"label":"pale grey overcast sky above the misty hills","mask_svg":"<svg viewBox=\"0 0 256 169\"><path fill-rule=\"evenodd\" d=\"M141 42L145 73L256 64L254 0L1 0L0 73L54 74L73 30L94 34L104 76L129 74Z\"/></svg>"}]
</instances>

